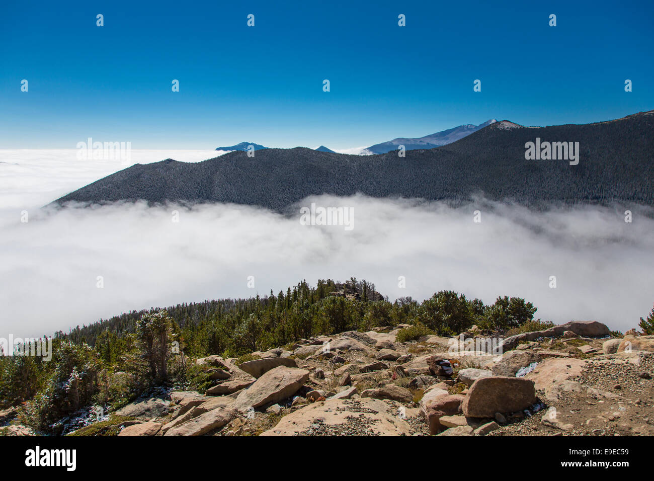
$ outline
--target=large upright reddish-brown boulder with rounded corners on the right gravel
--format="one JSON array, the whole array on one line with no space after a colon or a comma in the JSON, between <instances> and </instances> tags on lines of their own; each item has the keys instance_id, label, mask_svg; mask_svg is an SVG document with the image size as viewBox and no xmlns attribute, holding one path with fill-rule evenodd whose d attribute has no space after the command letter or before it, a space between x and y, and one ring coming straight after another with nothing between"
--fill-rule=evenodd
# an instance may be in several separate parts
<instances>
[{"instance_id":1,"label":"large upright reddish-brown boulder with rounded corners on the right gravel","mask_svg":"<svg viewBox=\"0 0 654 481\"><path fill-rule=\"evenodd\" d=\"M521 411L535 402L533 381L494 376L476 380L461 408L466 418L494 418L496 412Z\"/></svg>"}]
</instances>

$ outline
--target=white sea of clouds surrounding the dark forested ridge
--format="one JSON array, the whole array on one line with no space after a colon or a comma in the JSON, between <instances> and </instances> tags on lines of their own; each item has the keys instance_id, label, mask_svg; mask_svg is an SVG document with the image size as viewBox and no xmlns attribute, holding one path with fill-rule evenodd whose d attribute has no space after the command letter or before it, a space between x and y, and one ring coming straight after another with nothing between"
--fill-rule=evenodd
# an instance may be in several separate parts
<instances>
[{"instance_id":1,"label":"white sea of clouds surrounding the dark forested ridge","mask_svg":"<svg viewBox=\"0 0 654 481\"><path fill-rule=\"evenodd\" d=\"M215 155L132 151L131 163ZM365 196L308 198L292 216L233 204L52 209L42 206L125 166L77 160L75 150L0 151L0 162L0 337L67 331L153 306L277 294L318 278L368 279L390 300L442 289L487 303L520 296L543 320L594 319L620 330L636 327L654 302L654 221L637 205L629 206L632 223L625 207L534 212L483 199L450 207ZM354 228L302 225L300 207L312 202L354 209Z\"/></svg>"}]
</instances>

